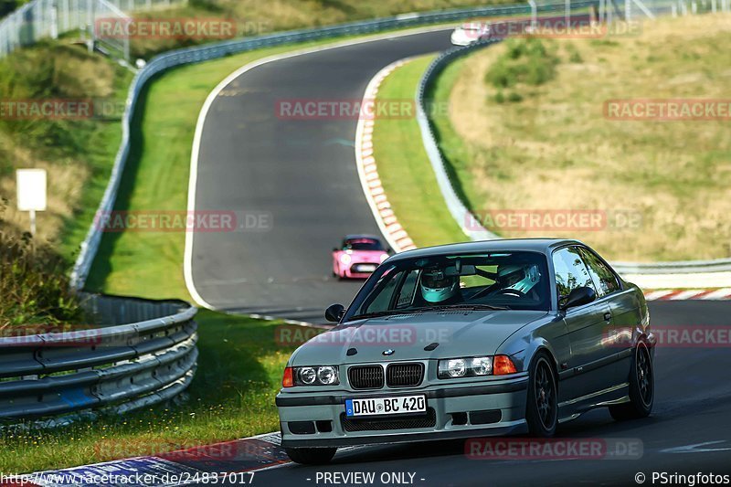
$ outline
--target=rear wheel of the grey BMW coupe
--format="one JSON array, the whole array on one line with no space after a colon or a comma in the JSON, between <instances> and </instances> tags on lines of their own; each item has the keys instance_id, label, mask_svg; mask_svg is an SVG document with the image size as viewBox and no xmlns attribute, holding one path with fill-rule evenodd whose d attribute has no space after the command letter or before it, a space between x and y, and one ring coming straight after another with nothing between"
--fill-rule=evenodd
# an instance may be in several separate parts
<instances>
[{"instance_id":1,"label":"rear wheel of the grey BMW coupe","mask_svg":"<svg viewBox=\"0 0 731 487\"><path fill-rule=\"evenodd\" d=\"M647 418L655 399L655 374L652 355L640 342L635 348L630 366L630 402L609 406L609 414L618 421Z\"/></svg>"}]
</instances>

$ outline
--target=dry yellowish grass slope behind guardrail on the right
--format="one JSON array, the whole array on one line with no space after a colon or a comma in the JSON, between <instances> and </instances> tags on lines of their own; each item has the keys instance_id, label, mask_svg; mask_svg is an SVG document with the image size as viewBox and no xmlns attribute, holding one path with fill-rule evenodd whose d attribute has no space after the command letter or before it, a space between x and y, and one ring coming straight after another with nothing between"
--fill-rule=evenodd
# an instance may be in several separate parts
<instances>
[{"instance_id":1,"label":"dry yellowish grass slope behind guardrail on the right","mask_svg":"<svg viewBox=\"0 0 731 487\"><path fill-rule=\"evenodd\" d=\"M725 100L725 28L724 16L709 14L648 22L640 37L546 40L556 64L535 77L530 64L511 64L515 49L537 46L530 39L452 64L431 93L450 111L432 121L463 201L478 214L607 215L599 229L493 228L503 237L579 238L615 260L728 257L727 122L614 121L603 114L609 100ZM627 215L639 224L627 225Z\"/></svg>"}]
</instances>

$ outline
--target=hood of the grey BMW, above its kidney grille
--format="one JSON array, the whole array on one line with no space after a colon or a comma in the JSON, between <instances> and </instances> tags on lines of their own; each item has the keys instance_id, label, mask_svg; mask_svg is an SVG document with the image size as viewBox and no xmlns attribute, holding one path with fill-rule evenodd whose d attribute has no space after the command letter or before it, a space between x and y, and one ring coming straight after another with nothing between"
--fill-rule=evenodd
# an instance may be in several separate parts
<instances>
[{"instance_id":1,"label":"hood of the grey BMW, above its kidney grille","mask_svg":"<svg viewBox=\"0 0 731 487\"><path fill-rule=\"evenodd\" d=\"M338 325L303 344L292 355L290 364L339 365L493 355L511 334L546 314L449 311L360 320ZM424 350L429 344L439 345ZM392 353L385 355L386 351Z\"/></svg>"}]
</instances>

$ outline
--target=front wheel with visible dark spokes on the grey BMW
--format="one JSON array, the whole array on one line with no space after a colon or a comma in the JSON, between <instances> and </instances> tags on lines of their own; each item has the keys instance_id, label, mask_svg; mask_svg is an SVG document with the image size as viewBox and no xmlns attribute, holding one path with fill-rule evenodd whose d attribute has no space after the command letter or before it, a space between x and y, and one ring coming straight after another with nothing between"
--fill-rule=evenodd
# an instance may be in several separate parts
<instances>
[{"instance_id":1,"label":"front wheel with visible dark spokes on the grey BMW","mask_svg":"<svg viewBox=\"0 0 731 487\"><path fill-rule=\"evenodd\" d=\"M545 353L535 355L528 376L525 421L528 432L536 438L550 438L558 424L558 388L556 373Z\"/></svg>"}]
</instances>

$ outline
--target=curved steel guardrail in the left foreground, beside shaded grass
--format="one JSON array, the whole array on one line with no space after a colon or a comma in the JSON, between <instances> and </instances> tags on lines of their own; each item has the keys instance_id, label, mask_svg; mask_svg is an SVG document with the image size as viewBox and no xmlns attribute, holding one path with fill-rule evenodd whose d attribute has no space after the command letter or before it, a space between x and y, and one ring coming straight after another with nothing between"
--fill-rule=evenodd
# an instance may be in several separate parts
<instances>
[{"instance_id":1,"label":"curved steel guardrail in the left foreground, beside shaded grass","mask_svg":"<svg viewBox=\"0 0 731 487\"><path fill-rule=\"evenodd\" d=\"M124 412L175 397L196 372L196 308L89 295L104 326L0 337L0 419Z\"/></svg>"}]
</instances>

